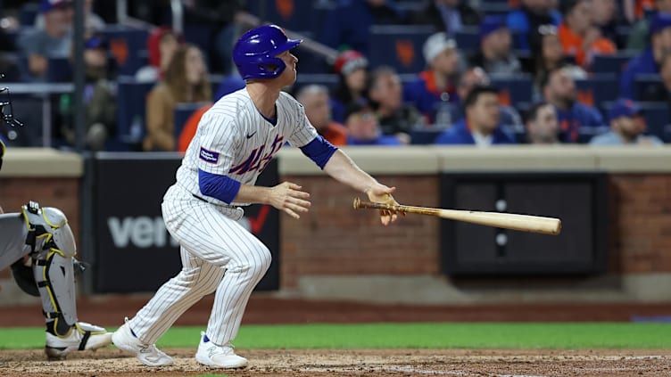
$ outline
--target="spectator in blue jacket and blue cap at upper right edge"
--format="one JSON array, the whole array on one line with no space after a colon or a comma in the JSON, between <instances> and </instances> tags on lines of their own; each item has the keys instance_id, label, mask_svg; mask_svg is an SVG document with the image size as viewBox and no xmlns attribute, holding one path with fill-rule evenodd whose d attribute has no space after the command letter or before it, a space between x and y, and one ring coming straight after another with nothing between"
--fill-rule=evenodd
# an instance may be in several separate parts
<instances>
[{"instance_id":1,"label":"spectator in blue jacket and blue cap at upper right edge","mask_svg":"<svg viewBox=\"0 0 671 377\"><path fill-rule=\"evenodd\" d=\"M636 76L659 73L667 53L671 53L671 14L658 13L650 21L650 46L632 58L620 76L620 95L633 99Z\"/></svg>"}]
</instances>

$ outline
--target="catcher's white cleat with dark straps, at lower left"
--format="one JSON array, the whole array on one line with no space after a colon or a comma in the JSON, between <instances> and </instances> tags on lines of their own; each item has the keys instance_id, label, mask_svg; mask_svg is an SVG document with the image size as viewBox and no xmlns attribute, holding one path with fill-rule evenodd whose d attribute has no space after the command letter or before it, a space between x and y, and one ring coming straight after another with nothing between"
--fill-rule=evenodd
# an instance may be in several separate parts
<instances>
[{"instance_id":1,"label":"catcher's white cleat with dark straps, at lower left","mask_svg":"<svg viewBox=\"0 0 671 377\"><path fill-rule=\"evenodd\" d=\"M95 350L110 343L112 332L100 326L78 322L64 337L46 332L45 353L49 360L62 360L72 351Z\"/></svg>"}]
</instances>

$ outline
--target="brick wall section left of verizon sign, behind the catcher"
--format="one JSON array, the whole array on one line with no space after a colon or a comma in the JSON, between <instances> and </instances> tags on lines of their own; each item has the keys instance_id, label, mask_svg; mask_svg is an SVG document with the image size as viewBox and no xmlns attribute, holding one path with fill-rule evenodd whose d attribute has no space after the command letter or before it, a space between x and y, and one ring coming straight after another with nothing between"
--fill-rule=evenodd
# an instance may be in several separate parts
<instances>
[{"instance_id":1,"label":"brick wall section left of verizon sign, behind the catcher","mask_svg":"<svg viewBox=\"0 0 671 377\"><path fill-rule=\"evenodd\" d=\"M0 206L5 212L18 212L28 201L61 209L68 217L79 244L79 178L3 178L0 184ZM0 279L11 275L0 271Z\"/></svg>"}]
</instances>

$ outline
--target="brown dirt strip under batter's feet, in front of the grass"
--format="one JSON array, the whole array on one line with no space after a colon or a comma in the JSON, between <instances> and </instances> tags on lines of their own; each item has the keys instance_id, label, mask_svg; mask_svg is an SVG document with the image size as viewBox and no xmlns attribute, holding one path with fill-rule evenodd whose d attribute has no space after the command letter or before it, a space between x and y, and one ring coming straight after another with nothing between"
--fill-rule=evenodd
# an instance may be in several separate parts
<instances>
[{"instance_id":1,"label":"brown dirt strip under batter's feet, in front of the grass","mask_svg":"<svg viewBox=\"0 0 671 377\"><path fill-rule=\"evenodd\" d=\"M3 376L631 376L671 375L671 350L511 349L273 349L244 350L242 370L221 371L195 363L195 349L166 348L175 365L150 368L116 348L80 352L47 362L41 350L3 350Z\"/></svg>"}]
</instances>

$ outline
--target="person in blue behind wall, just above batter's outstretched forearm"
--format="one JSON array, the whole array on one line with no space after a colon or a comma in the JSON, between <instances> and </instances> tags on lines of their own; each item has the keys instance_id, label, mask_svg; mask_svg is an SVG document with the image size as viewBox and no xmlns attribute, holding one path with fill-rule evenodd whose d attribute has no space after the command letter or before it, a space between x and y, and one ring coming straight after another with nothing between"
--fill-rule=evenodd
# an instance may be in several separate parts
<instances>
[{"instance_id":1,"label":"person in blue behind wall, just above batter's outstretched forearm","mask_svg":"<svg viewBox=\"0 0 671 377\"><path fill-rule=\"evenodd\" d=\"M347 145L402 145L398 138L382 134L375 111L368 104L352 102L345 111Z\"/></svg>"}]
</instances>

